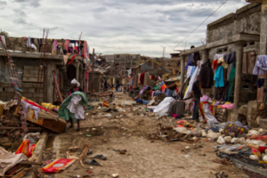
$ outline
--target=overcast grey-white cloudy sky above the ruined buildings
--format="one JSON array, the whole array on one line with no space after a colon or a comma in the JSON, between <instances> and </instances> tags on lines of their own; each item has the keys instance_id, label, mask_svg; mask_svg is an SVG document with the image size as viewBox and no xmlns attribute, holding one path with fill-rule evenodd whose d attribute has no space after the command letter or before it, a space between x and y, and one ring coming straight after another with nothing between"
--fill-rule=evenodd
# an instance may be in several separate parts
<instances>
[{"instance_id":1,"label":"overcast grey-white cloudy sky above the ruined buildings","mask_svg":"<svg viewBox=\"0 0 267 178\"><path fill-rule=\"evenodd\" d=\"M0 28L10 36L82 39L96 53L140 53L166 57L176 44L224 0L0 0ZM206 24L246 5L228 0L186 40L201 44ZM184 49L185 42L176 49Z\"/></svg>"}]
</instances>

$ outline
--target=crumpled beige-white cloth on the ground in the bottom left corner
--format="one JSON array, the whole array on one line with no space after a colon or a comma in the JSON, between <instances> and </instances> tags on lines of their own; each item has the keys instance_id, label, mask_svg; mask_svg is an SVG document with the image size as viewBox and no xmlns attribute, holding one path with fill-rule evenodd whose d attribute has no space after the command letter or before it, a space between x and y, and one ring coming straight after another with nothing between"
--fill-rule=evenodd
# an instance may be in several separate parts
<instances>
[{"instance_id":1,"label":"crumpled beige-white cloth on the ground in the bottom left corner","mask_svg":"<svg viewBox=\"0 0 267 178\"><path fill-rule=\"evenodd\" d=\"M0 147L0 176L4 176L5 171L27 159L23 153L12 154Z\"/></svg>"}]
</instances>

